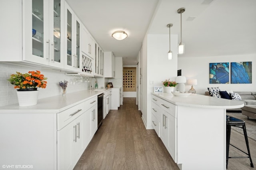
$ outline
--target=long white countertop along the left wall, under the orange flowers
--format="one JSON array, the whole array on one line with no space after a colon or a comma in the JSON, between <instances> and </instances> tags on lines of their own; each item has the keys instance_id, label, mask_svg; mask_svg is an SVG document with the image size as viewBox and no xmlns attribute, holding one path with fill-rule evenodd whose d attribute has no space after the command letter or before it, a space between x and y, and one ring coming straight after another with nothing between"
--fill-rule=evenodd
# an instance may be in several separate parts
<instances>
[{"instance_id":1,"label":"long white countertop along the left wall, under the orange flowers","mask_svg":"<svg viewBox=\"0 0 256 170\"><path fill-rule=\"evenodd\" d=\"M113 87L111 89L119 88L120 87ZM18 103L7 105L0 107L0 113L59 113L111 89L97 89L100 91L84 90L67 93L66 95L47 97L38 99L37 105L34 106L20 107Z\"/></svg>"}]
</instances>

